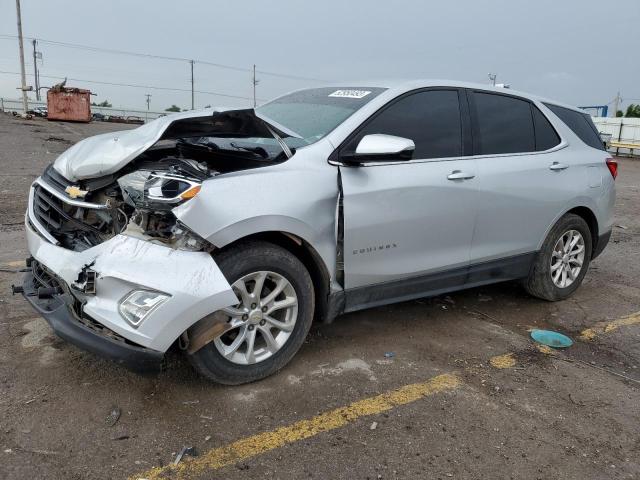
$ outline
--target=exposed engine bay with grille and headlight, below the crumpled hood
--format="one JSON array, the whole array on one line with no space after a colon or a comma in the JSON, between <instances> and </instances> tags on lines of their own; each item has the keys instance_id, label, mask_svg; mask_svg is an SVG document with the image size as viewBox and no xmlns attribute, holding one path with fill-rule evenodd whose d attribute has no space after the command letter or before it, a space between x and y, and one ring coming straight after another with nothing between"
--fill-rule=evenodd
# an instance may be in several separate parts
<instances>
[{"instance_id":1,"label":"exposed engine bay with grille and headlight, below the crumpled hood","mask_svg":"<svg viewBox=\"0 0 640 480\"><path fill-rule=\"evenodd\" d=\"M49 166L41 183L34 184L35 219L62 247L75 251L120 233L184 250L211 249L171 210L195 197L207 179L291 155L269 126L256 125L256 117L247 126L245 117L233 113L172 123L160 140L116 173L71 182ZM220 133L202 136L212 128Z\"/></svg>"}]
</instances>

